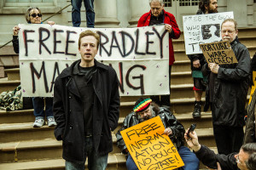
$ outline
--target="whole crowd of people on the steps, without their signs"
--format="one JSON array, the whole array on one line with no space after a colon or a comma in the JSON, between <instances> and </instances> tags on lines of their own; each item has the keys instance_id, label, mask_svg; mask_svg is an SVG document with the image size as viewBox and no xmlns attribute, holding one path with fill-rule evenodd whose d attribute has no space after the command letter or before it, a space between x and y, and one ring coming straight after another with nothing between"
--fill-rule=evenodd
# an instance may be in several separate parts
<instances>
[{"instance_id":1,"label":"whole crowd of people on the steps, without their signs","mask_svg":"<svg viewBox=\"0 0 256 170\"><path fill-rule=\"evenodd\" d=\"M73 26L81 24L80 8L82 0L71 0ZM94 0L84 0L87 27L95 26ZM174 50L172 39L177 39L181 31L173 14L166 12L163 0L149 0L150 10L138 20L137 27L165 24L169 33L169 86L171 86ZM218 13L217 0L201 0L196 14ZM28 8L26 22L42 24L43 14L39 8ZM54 21L48 21L55 25ZM13 46L19 53L19 26L13 28ZM247 92L252 84L250 54L238 39L236 20L224 20L221 25L222 41L230 42L238 63L231 65L208 64L203 54L188 55L194 80L195 109L194 119L201 118L202 94L206 91L204 111L212 110L213 134L218 148L215 154L198 141L195 131L185 131L183 125L170 111L170 94L140 98L134 109L125 117L122 127L116 133L117 145L127 155L126 167L138 169L133 161L120 131L160 116L165 126L164 133L175 144L184 166L181 169L199 169L200 161L211 169L256 169L255 114L250 115L252 128L246 129L252 138L247 144L243 127L246 124ZM79 35L78 51L81 59L61 71L55 79L54 97L33 97L35 122L33 127L42 127L45 117L49 127L55 126L55 138L63 144L63 158L67 170L106 169L108 153L113 150L111 131L119 121L119 81L112 67L103 65L95 59L100 43L100 36L94 31L83 31ZM255 54L256 58L256 54ZM100 83L99 83L100 82ZM171 92L171 89L170 89ZM256 94L255 94L256 96ZM256 100L256 97L255 99ZM251 107L254 108L255 101ZM44 109L45 108L45 109ZM250 110L251 112L254 109ZM247 111L248 112L248 111ZM254 122L252 121L254 120ZM253 132L253 133L252 133ZM188 135L189 133L189 135ZM254 134L254 136L253 136ZM193 152L189 150L191 148Z\"/></svg>"}]
</instances>

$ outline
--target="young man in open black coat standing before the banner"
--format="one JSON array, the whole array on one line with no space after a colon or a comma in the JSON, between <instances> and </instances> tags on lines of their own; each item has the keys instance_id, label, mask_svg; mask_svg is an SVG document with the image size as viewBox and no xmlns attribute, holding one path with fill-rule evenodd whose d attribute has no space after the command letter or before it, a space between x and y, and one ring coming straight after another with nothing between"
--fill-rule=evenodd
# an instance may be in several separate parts
<instances>
[{"instance_id":1,"label":"young man in open black coat standing before the banner","mask_svg":"<svg viewBox=\"0 0 256 170\"><path fill-rule=\"evenodd\" d=\"M79 36L81 59L55 80L55 138L63 141L66 169L103 170L113 150L111 131L119 120L119 86L112 67L96 61L100 37L93 31Z\"/></svg>"}]
</instances>

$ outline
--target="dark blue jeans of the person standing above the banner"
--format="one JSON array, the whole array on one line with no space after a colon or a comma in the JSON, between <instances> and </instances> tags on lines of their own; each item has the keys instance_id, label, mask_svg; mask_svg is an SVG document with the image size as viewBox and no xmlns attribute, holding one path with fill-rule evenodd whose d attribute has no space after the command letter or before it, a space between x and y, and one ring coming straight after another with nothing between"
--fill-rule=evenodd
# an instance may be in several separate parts
<instances>
[{"instance_id":1,"label":"dark blue jeans of the person standing above the banner","mask_svg":"<svg viewBox=\"0 0 256 170\"><path fill-rule=\"evenodd\" d=\"M87 27L94 28L95 12L94 12L94 0L84 0L84 7L86 10L86 24ZM72 8L72 23L74 27L79 27L81 24L81 6L82 0L71 0Z\"/></svg>"}]
</instances>

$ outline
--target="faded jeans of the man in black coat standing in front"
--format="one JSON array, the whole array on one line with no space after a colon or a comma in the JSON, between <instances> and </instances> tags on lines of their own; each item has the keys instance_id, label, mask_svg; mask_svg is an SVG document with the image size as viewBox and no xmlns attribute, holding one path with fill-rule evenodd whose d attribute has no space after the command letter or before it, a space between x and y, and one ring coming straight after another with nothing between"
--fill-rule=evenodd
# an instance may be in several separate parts
<instances>
[{"instance_id":1,"label":"faded jeans of the man in black coat standing in front","mask_svg":"<svg viewBox=\"0 0 256 170\"><path fill-rule=\"evenodd\" d=\"M108 154L105 156L96 156L92 137L84 137L84 154L88 156L89 170L105 170L108 165ZM66 161L66 170L84 170L84 163L74 163Z\"/></svg>"}]
</instances>

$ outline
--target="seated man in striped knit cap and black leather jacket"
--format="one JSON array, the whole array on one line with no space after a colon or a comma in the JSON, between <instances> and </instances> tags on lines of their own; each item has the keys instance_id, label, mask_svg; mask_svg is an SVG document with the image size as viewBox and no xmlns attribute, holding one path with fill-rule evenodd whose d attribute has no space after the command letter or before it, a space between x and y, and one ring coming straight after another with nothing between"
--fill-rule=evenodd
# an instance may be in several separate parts
<instances>
[{"instance_id":1,"label":"seated man in striped knit cap and black leather jacket","mask_svg":"<svg viewBox=\"0 0 256 170\"><path fill-rule=\"evenodd\" d=\"M144 122L154 116L160 116L161 121L166 127L164 133L169 135L172 143L176 145L177 151L181 156L184 166L184 170L196 170L199 169L199 161L195 154L192 153L189 148L184 146L184 127L177 121L176 117L172 115L172 112L167 110L165 107L159 107L158 105L151 103L151 99L140 98L135 103L133 111L125 117L123 122L123 127L121 127L116 133L117 145L124 154L128 154L128 159L126 161L126 167L128 170L138 169L135 162L128 153L125 141L121 136L120 131L137 125L140 122Z\"/></svg>"}]
</instances>

